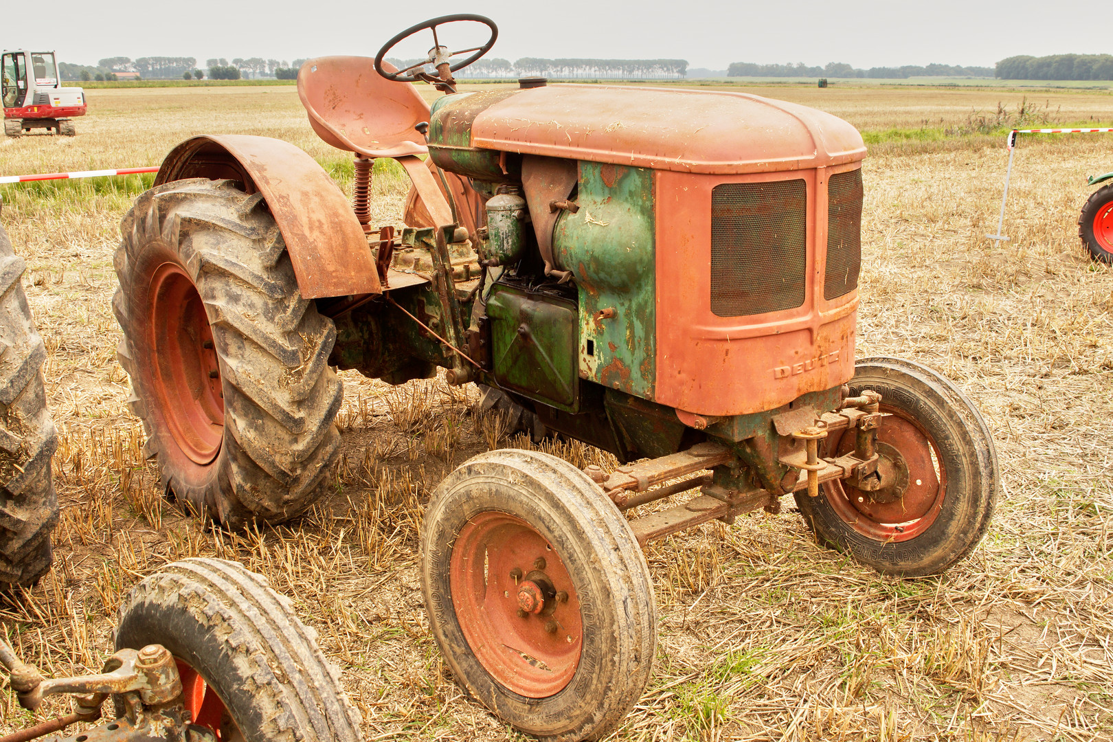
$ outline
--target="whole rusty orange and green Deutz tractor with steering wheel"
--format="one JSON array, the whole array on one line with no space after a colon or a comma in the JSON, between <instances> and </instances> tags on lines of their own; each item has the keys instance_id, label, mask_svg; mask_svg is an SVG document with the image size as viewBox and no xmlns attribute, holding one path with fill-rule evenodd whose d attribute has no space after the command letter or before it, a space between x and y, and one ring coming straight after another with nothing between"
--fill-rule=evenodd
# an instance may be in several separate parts
<instances>
[{"instance_id":1,"label":"whole rusty orange and green Deutz tractor with steering wheel","mask_svg":"<svg viewBox=\"0 0 1113 742\"><path fill-rule=\"evenodd\" d=\"M456 22L489 40L451 51ZM427 60L383 61L424 29ZM997 464L945 378L855 364L866 149L850 125L742 92L456 92L452 72L495 36L449 16L374 60L302 67L309 123L355 154L354 205L283 141L174 149L121 225L119 357L168 492L232 527L324 491L333 367L392 384L443 367L534 433L612 452L613 472L475 456L421 534L457 682L530 734L598 738L650 676L644 544L791 494L821 543L933 574L985 532ZM417 80L446 95L431 108ZM376 158L413 182L401 233L370 225Z\"/></svg>"}]
</instances>

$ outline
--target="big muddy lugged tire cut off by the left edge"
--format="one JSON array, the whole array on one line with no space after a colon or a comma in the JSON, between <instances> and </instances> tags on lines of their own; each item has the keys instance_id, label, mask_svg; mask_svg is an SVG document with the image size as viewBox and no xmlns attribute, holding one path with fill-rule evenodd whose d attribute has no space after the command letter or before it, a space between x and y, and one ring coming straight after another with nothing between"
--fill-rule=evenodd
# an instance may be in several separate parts
<instances>
[{"instance_id":1,"label":"big muddy lugged tire cut off by the left edge","mask_svg":"<svg viewBox=\"0 0 1113 742\"><path fill-rule=\"evenodd\" d=\"M47 409L42 362L17 256L0 227L0 584L32 585L52 561L58 497L50 459L58 433Z\"/></svg>"}]
</instances>

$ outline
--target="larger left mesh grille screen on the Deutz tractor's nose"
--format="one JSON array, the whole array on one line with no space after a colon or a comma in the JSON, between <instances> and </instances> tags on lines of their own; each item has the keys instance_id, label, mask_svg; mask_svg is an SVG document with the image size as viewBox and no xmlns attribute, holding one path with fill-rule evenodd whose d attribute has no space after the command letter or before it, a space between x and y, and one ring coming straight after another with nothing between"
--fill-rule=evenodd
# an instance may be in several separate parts
<instances>
[{"instance_id":1,"label":"larger left mesh grille screen on the Deutz tractor's nose","mask_svg":"<svg viewBox=\"0 0 1113 742\"><path fill-rule=\"evenodd\" d=\"M711 191L711 311L795 309L807 266L804 180L729 182Z\"/></svg>"}]
</instances>

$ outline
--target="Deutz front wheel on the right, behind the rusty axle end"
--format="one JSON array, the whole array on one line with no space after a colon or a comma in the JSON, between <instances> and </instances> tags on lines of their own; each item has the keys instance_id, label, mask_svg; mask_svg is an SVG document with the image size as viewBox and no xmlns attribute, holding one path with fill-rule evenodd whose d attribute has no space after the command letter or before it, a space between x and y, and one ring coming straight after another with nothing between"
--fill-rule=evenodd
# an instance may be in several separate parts
<instances>
[{"instance_id":1,"label":"Deutz front wheel on the right, behind the rusty axle end","mask_svg":"<svg viewBox=\"0 0 1113 742\"><path fill-rule=\"evenodd\" d=\"M817 540L880 572L936 574L981 541L998 489L997 454L973 403L935 372L897 358L857 364L850 394L881 395L877 492L829 482L796 494ZM826 441L825 456L854 449L854 432Z\"/></svg>"}]
</instances>

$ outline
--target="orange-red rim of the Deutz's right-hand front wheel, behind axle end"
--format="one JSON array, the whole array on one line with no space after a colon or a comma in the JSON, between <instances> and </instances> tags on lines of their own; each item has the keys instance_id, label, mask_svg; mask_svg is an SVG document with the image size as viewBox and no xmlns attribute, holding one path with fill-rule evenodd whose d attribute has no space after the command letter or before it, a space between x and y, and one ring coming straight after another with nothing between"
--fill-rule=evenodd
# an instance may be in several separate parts
<instances>
[{"instance_id":1,"label":"orange-red rim of the Deutz's right-hand front wheel, behind axle end","mask_svg":"<svg viewBox=\"0 0 1113 742\"><path fill-rule=\"evenodd\" d=\"M908 541L935 523L946 496L946 471L939 447L919 423L895 407L881 405L880 410L889 416L881 418L877 442L887 444L886 451L898 452L899 464L907 468L904 494L892 502L876 502L871 493L840 481L828 482L824 492L836 514L857 533L881 542ZM837 443L833 442L836 455L854 451L854 437L844 432ZM893 471L893 462L885 459L883 456L878 471Z\"/></svg>"}]
</instances>

